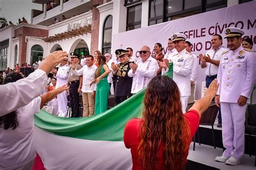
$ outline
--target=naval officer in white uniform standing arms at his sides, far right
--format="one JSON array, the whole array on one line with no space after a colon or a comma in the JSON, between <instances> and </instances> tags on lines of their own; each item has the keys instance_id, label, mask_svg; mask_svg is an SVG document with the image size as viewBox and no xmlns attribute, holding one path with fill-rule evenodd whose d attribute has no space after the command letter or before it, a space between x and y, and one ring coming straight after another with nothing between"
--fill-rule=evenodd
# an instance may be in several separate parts
<instances>
[{"instance_id":1,"label":"naval officer in white uniform standing arms at his sides, far right","mask_svg":"<svg viewBox=\"0 0 256 170\"><path fill-rule=\"evenodd\" d=\"M245 150L245 112L254 85L255 56L241 46L244 31L228 27L224 33L230 50L221 56L215 103L218 106L221 104L222 136L226 150L215 160L238 165Z\"/></svg>"}]
</instances>

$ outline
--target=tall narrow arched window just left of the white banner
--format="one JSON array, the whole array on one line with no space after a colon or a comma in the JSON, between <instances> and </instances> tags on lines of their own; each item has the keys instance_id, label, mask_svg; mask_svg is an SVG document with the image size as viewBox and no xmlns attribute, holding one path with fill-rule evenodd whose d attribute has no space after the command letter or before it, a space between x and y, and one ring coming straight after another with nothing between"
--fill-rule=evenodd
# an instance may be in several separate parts
<instances>
[{"instance_id":1,"label":"tall narrow arched window just left of the white banner","mask_svg":"<svg viewBox=\"0 0 256 170\"><path fill-rule=\"evenodd\" d=\"M108 16L103 25L102 54L111 54L113 17Z\"/></svg>"}]
</instances>

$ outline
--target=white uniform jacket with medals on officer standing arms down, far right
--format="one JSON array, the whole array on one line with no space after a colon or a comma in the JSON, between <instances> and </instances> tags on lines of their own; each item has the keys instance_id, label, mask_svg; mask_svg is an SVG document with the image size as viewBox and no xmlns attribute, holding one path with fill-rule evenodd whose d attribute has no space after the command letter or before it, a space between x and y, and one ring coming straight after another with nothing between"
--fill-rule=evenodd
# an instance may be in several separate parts
<instances>
[{"instance_id":1,"label":"white uniform jacket with medals on officer standing arms down, far right","mask_svg":"<svg viewBox=\"0 0 256 170\"><path fill-rule=\"evenodd\" d=\"M217 76L220 102L237 103L241 95L247 97L247 103L250 103L255 79L254 58L253 52L246 51L242 46L221 56Z\"/></svg>"}]
</instances>

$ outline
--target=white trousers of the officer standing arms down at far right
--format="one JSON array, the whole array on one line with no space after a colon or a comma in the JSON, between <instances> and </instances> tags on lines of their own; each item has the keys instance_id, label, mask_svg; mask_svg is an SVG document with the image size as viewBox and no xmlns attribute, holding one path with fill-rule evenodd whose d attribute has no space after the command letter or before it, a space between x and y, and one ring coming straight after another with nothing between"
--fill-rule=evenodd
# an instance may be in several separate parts
<instances>
[{"instance_id":1,"label":"white trousers of the officer standing arms down at far right","mask_svg":"<svg viewBox=\"0 0 256 170\"><path fill-rule=\"evenodd\" d=\"M247 104L221 102L222 138L225 157L241 159L245 151L245 112Z\"/></svg>"}]
</instances>

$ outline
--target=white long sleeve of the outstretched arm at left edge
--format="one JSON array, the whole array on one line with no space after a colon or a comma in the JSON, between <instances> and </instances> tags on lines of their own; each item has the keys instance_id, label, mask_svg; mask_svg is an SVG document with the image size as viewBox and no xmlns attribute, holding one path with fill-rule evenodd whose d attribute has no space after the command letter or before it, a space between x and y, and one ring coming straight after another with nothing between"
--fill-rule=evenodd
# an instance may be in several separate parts
<instances>
[{"instance_id":1,"label":"white long sleeve of the outstretched arm at left edge","mask_svg":"<svg viewBox=\"0 0 256 170\"><path fill-rule=\"evenodd\" d=\"M25 79L0 86L0 116L9 114L38 97L47 85L47 76L41 69L35 70ZM11 102L10 102L11 101Z\"/></svg>"}]
</instances>

